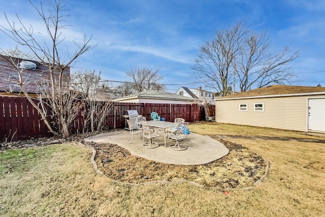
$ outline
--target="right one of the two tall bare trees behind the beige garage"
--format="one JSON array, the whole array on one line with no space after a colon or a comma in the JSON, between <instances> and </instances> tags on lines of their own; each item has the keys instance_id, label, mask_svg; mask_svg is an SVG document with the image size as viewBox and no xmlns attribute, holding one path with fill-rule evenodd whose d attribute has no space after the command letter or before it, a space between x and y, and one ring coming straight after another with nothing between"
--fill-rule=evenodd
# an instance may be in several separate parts
<instances>
[{"instance_id":1,"label":"right one of the two tall bare trees behind the beige garage","mask_svg":"<svg viewBox=\"0 0 325 217\"><path fill-rule=\"evenodd\" d=\"M291 53L288 47L280 52L272 50L266 33L248 34L236 57L240 91L252 86L259 88L272 83L290 83L295 75L288 64L298 56L298 51Z\"/></svg>"}]
</instances>

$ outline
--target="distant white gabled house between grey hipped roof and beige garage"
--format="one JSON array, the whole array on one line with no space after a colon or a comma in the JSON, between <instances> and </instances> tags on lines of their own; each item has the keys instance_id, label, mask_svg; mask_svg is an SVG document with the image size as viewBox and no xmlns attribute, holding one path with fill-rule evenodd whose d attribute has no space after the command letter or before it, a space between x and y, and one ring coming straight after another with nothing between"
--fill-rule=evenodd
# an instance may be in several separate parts
<instances>
[{"instance_id":1,"label":"distant white gabled house between grey hipped roof and beige garage","mask_svg":"<svg viewBox=\"0 0 325 217\"><path fill-rule=\"evenodd\" d=\"M176 91L176 94L199 100L202 104L215 104L215 101L213 100L213 92L203 90L202 87L199 87L199 89L193 89L181 86Z\"/></svg>"}]
</instances>

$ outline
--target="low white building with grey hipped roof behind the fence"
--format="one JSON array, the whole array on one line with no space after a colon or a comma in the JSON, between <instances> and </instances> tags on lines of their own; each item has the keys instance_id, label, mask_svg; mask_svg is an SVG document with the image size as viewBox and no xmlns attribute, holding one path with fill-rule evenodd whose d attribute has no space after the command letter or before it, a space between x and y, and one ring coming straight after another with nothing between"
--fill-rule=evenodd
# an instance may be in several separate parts
<instances>
[{"instance_id":1,"label":"low white building with grey hipped roof behind the fence","mask_svg":"<svg viewBox=\"0 0 325 217\"><path fill-rule=\"evenodd\" d=\"M125 103L171 103L171 104L193 104L198 102L198 100L194 100L193 98L172 94L171 92L158 91L158 90L146 90L143 92L139 92L138 94L132 94L112 101L125 102Z\"/></svg>"}]
</instances>

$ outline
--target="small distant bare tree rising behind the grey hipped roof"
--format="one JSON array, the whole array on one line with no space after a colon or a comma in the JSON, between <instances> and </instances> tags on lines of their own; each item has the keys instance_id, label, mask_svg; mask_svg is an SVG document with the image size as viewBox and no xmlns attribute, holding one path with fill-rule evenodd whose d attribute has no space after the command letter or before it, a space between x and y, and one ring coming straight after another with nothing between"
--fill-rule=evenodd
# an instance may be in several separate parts
<instances>
[{"instance_id":1,"label":"small distant bare tree rising behind the grey hipped roof","mask_svg":"<svg viewBox=\"0 0 325 217\"><path fill-rule=\"evenodd\" d=\"M132 79L129 84L124 84L125 88L131 89L132 93L142 92L145 90L165 90L166 86L158 82L163 80L163 76L158 74L159 70L150 69L133 69L126 72L126 75Z\"/></svg>"}]
</instances>

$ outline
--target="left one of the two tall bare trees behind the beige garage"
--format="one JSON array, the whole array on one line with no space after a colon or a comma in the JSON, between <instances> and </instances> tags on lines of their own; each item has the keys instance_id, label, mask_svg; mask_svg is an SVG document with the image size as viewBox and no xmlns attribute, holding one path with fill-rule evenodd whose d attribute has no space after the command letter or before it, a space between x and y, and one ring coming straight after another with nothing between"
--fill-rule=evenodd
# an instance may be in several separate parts
<instances>
[{"instance_id":1,"label":"left one of the two tall bare trees behind the beige garage","mask_svg":"<svg viewBox=\"0 0 325 217\"><path fill-rule=\"evenodd\" d=\"M192 66L196 71L193 77L225 96L232 76L232 63L242 49L246 34L247 29L242 23L218 31L212 41L201 46Z\"/></svg>"}]
</instances>

